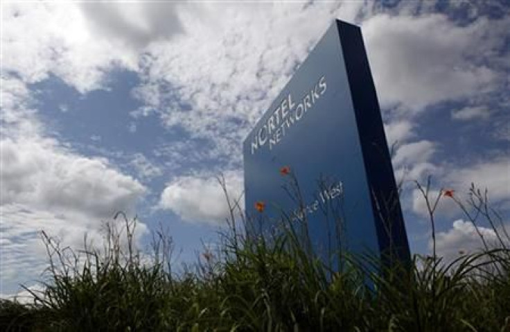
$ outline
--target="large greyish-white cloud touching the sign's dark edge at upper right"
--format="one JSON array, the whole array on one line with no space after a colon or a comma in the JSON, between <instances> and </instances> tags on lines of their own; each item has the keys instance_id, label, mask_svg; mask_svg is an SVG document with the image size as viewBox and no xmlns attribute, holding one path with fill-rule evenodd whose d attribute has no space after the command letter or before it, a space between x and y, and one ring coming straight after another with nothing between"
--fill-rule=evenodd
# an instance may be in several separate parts
<instances>
[{"instance_id":1,"label":"large greyish-white cloud touching the sign's dark edge at upper right","mask_svg":"<svg viewBox=\"0 0 510 332\"><path fill-rule=\"evenodd\" d=\"M504 75L480 59L497 57L507 24L456 26L444 15L367 19L362 29L381 103L417 112L496 89Z\"/></svg>"}]
</instances>

